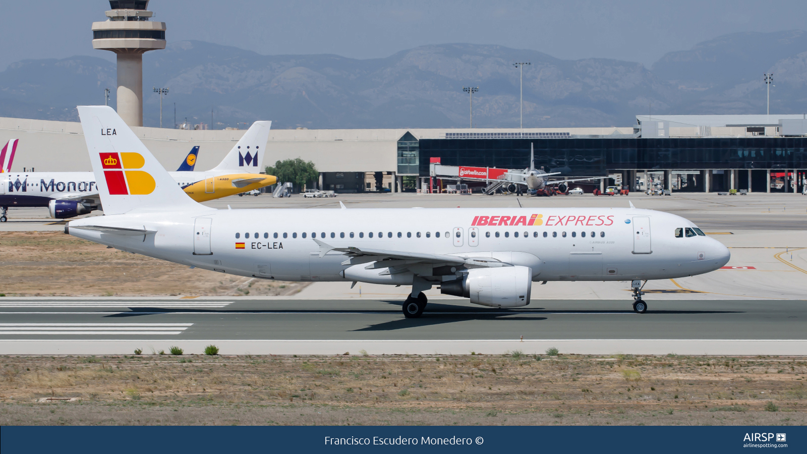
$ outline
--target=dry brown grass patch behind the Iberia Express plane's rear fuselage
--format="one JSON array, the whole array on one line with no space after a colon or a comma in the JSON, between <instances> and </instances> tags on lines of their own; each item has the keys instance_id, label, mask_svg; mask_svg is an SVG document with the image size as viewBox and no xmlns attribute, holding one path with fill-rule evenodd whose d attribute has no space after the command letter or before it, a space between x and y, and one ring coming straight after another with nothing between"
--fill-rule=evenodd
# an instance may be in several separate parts
<instances>
[{"instance_id":1,"label":"dry brown grass patch behind the Iberia Express plane's rear fuselage","mask_svg":"<svg viewBox=\"0 0 807 454\"><path fill-rule=\"evenodd\" d=\"M61 232L0 232L0 259L7 296L277 296L308 284L190 269Z\"/></svg>"}]
</instances>

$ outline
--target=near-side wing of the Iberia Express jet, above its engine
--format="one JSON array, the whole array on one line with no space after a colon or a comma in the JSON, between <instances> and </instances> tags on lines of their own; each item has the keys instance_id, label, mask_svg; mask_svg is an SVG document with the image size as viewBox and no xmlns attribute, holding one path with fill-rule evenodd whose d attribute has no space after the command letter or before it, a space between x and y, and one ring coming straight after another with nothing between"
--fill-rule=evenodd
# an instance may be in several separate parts
<instances>
[{"instance_id":1,"label":"near-side wing of the Iberia Express jet, above its engine","mask_svg":"<svg viewBox=\"0 0 807 454\"><path fill-rule=\"evenodd\" d=\"M370 263L367 268L388 268L413 265L416 263L428 263L431 265L468 265L470 267L509 267L509 263L501 262L491 257L474 257L468 255L447 255L447 254L424 254L419 252L403 252L400 250L382 249L360 249L358 247L335 247L326 242L314 239L320 245L320 257L331 250L336 250L346 255L349 259L343 265L358 265L360 263Z\"/></svg>"}]
</instances>

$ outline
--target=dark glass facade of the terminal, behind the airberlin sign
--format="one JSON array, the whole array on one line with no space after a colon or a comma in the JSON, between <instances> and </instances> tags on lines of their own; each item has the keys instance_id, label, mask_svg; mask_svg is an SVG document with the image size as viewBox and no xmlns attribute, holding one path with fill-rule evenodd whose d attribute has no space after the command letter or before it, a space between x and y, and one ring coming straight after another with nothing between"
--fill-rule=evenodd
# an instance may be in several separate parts
<instances>
[{"instance_id":1,"label":"dark glass facade of the terminal, behind the airberlin sign","mask_svg":"<svg viewBox=\"0 0 807 454\"><path fill-rule=\"evenodd\" d=\"M420 140L419 173L429 176L429 158L440 158L444 166L524 169L531 143L537 168L567 176L605 176L609 170L807 169L807 137L449 138Z\"/></svg>"}]
</instances>

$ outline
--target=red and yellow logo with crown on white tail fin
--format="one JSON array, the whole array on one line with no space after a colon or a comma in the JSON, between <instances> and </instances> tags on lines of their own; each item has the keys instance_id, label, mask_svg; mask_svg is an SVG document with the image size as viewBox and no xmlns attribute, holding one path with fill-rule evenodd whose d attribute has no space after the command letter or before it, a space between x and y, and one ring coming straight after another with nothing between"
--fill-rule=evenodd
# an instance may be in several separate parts
<instances>
[{"instance_id":1,"label":"red and yellow logo with crown on white tail fin","mask_svg":"<svg viewBox=\"0 0 807 454\"><path fill-rule=\"evenodd\" d=\"M99 153L110 195L151 194L157 183L140 169L145 160L140 153ZM115 170L119 169L119 170Z\"/></svg>"}]
</instances>

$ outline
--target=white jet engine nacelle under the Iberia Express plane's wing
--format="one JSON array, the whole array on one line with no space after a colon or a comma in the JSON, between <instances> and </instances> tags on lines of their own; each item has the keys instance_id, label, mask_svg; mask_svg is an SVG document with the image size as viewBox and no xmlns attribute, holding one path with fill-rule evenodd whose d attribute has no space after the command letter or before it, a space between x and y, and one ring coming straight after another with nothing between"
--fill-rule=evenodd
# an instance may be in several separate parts
<instances>
[{"instance_id":1,"label":"white jet engine nacelle under the Iberia Express plane's wing","mask_svg":"<svg viewBox=\"0 0 807 454\"><path fill-rule=\"evenodd\" d=\"M533 287L529 267L475 268L458 280L441 284L441 293L470 298L475 305L516 308L529 305Z\"/></svg>"}]
</instances>

